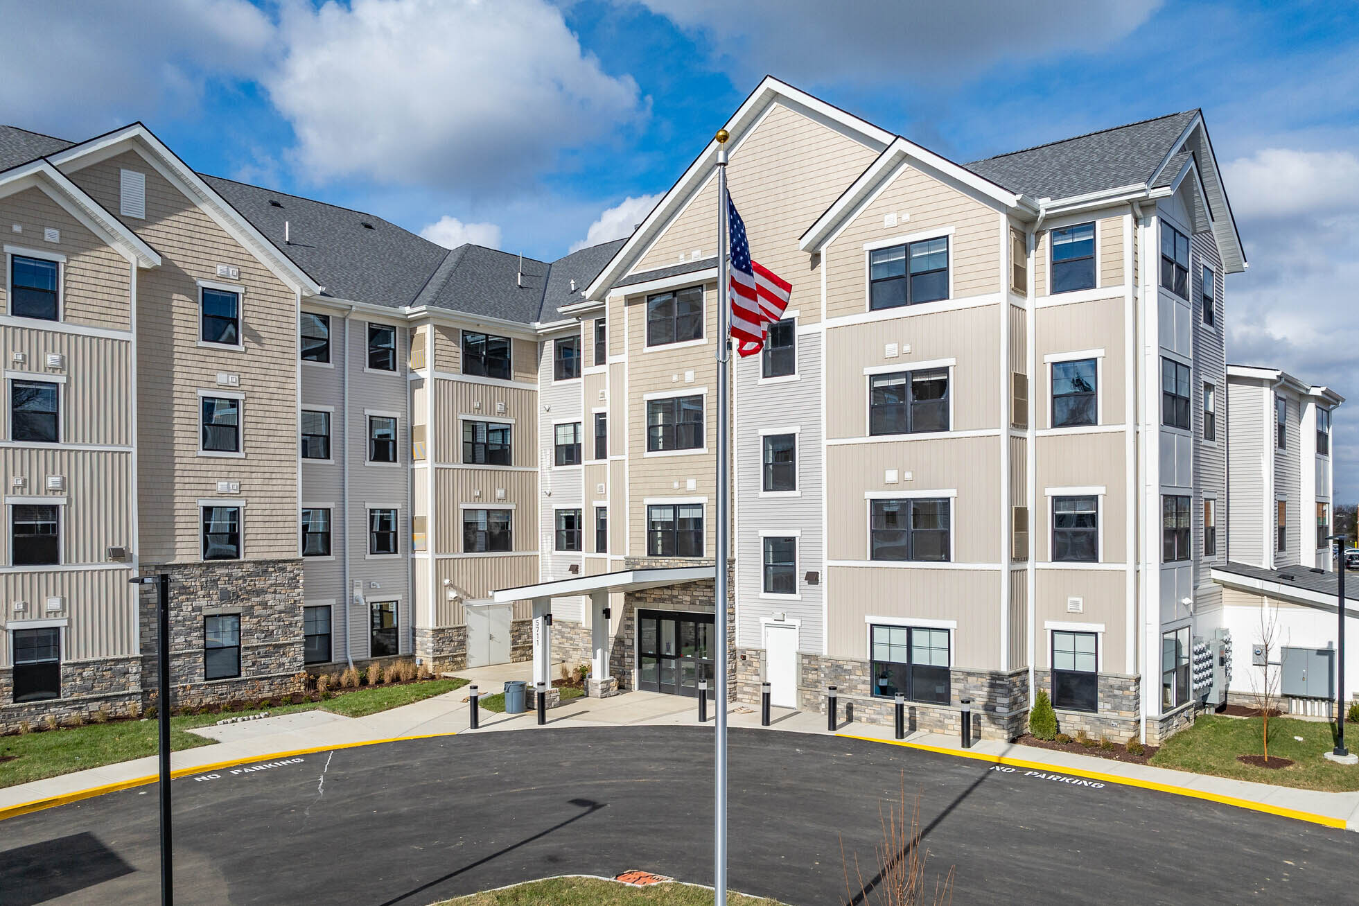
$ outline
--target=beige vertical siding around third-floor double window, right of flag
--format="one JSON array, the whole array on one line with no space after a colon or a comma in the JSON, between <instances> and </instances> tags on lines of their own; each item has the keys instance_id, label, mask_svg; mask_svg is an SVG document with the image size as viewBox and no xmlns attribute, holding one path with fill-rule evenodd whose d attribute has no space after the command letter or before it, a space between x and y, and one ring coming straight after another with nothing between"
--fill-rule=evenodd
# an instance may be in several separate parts
<instances>
[{"instance_id":1,"label":"beige vertical siding around third-floor double window, right of flag","mask_svg":"<svg viewBox=\"0 0 1359 906\"><path fill-rule=\"evenodd\" d=\"M886 356L896 343L898 355ZM900 354L906 346L909 354ZM868 378L864 367L893 366L908 371L915 362L957 359L949 393L953 430L999 427L999 395L1007 386L1000 374L1000 331L996 309L978 306L936 312L894 321L855 324L826 331L826 437L868 434Z\"/></svg>"}]
</instances>

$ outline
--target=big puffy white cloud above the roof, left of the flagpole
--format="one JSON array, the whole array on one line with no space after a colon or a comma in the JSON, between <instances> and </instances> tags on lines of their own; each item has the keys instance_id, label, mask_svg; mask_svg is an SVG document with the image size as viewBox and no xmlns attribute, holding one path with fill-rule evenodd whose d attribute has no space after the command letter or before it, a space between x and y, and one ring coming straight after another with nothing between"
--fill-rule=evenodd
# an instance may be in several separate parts
<instances>
[{"instance_id":1,"label":"big puffy white cloud above the roof, left of the flagpole","mask_svg":"<svg viewBox=\"0 0 1359 906\"><path fill-rule=\"evenodd\" d=\"M493 195L640 110L544 0L295 5L281 30L264 82L313 178Z\"/></svg>"}]
</instances>

